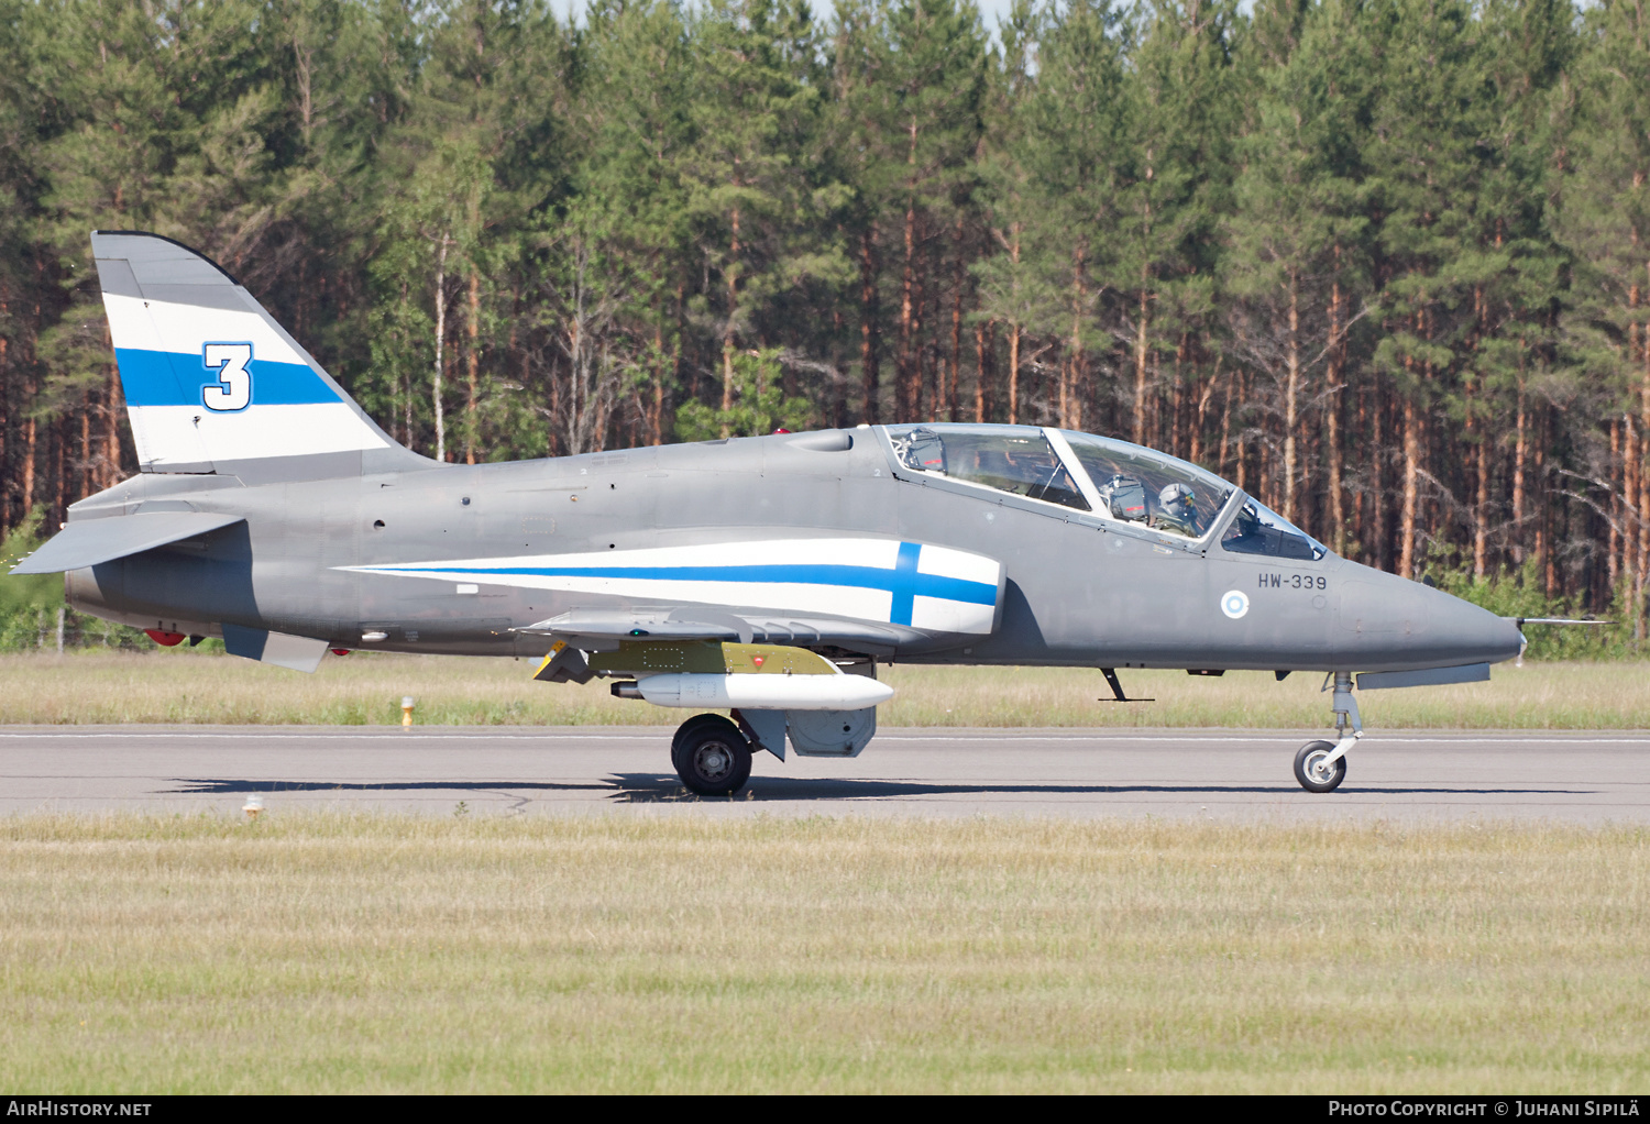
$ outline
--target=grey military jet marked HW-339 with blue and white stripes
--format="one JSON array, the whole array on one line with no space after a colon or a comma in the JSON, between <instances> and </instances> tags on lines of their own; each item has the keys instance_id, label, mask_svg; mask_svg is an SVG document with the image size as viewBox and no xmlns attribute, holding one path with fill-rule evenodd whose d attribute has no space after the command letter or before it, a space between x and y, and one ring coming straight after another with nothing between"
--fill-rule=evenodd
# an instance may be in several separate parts
<instances>
[{"instance_id":1,"label":"grey military jet marked HW-339 with blue and white stripes","mask_svg":"<svg viewBox=\"0 0 1650 1124\"><path fill-rule=\"evenodd\" d=\"M13 573L160 644L312 672L333 649L526 655L695 713L672 761L856 756L878 662L1323 672L1330 792L1358 688L1488 678L1521 622L1360 566L1229 482L1110 437L898 424L454 465L393 441L257 300L157 234L92 234L142 472ZM729 711L729 716L706 711Z\"/></svg>"}]
</instances>

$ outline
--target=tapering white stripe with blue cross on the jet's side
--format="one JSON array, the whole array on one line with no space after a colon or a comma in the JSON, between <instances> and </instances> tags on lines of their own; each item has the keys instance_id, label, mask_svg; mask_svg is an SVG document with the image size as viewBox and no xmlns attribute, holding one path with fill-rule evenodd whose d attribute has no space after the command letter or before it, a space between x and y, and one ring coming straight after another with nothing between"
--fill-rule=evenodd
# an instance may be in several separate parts
<instances>
[{"instance_id":1,"label":"tapering white stripe with blue cross on the jet's side","mask_svg":"<svg viewBox=\"0 0 1650 1124\"><path fill-rule=\"evenodd\" d=\"M653 604L820 612L972 635L992 630L1003 573L993 558L884 538L780 538L343 569Z\"/></svg>"}]
</instances>

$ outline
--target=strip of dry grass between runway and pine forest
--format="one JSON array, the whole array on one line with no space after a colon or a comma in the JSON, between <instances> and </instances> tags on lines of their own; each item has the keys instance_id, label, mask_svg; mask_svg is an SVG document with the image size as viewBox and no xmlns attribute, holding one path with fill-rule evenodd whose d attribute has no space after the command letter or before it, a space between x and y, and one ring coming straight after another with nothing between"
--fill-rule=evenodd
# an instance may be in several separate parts
<instances>
[{"instance_id":1,"label":"strip of dry grass between runway and pine forest","mask_svg":"<svg viewBox=\"0 0 1650 1124\"><path fill-rule=\"evenodd\" d=\"M399 723L401 698L427 725L675 725L681 715L587 687L535 683L526 660L355 654L315 675L233 657L183 654L0 655L0 723ZM884 726L1251 726L1328 725L1322 675L1270 672L1195 678L1122 672L1109 697L1086 668L883 668L898 695ZM1488 683L1371 692L1376 730L1645 730L1650 664L1503 664Z\"/></svg>"}]
</instances>

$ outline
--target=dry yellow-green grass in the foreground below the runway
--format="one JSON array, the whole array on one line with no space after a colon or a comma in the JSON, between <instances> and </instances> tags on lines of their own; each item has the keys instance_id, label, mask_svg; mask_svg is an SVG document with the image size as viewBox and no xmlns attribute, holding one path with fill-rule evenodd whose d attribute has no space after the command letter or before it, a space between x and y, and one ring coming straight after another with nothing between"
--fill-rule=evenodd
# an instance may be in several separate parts
<instances>
[{"instance_id":1,"label":"dry yellow-green grass in the foreground below the runway","mask_svg":"<svg viewBox=\"0 0 1650 1124\"><path fill-rule=\"evenodd\" d=\"M0 820L0 1086L1650 1088L1650 832Z\"/></svg>"}]
</instances>

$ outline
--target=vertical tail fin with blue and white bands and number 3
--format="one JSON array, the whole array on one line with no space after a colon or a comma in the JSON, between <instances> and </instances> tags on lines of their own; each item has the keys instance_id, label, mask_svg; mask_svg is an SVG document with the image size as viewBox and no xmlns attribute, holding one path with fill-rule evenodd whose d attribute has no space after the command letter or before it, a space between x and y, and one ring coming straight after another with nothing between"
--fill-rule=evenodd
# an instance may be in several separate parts
<instances>
[{"instance_id":1,"label":"vertical tail fin with blue and white bands and number 3","mask_svg":"<svg viewBox=\"0 0 1650 1124\"><path fill-rule=\"evenodd\" d=\"M394 442L216 262L142 231L92 231L145 472L314 480L432 462Z\"/></svg>"}]
</instances>

